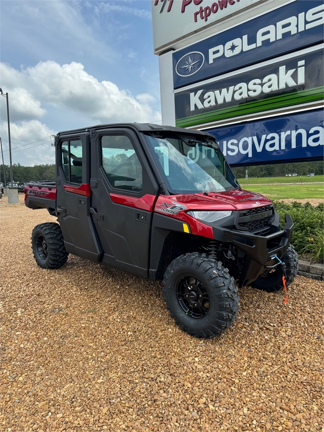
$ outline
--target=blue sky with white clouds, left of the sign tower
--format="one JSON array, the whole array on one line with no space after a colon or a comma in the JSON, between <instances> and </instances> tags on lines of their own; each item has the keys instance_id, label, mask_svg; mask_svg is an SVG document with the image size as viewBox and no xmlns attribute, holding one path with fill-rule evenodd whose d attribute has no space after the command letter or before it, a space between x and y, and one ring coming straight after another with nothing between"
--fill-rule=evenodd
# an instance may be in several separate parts
<instances>
[{"instance_id":1,"label":"blue sky with white clouds, left of the sign tower","mask_svg":"<svg viewBox=\"0 0 324 432\"><path fill-rule=\"evenodd\" d=\"M13 164L54 163L51 135L62 130L160 123L149 0L1 0L0 8ZM0 114L9 165L5 97Z\"/></svg>"}]
</instances>

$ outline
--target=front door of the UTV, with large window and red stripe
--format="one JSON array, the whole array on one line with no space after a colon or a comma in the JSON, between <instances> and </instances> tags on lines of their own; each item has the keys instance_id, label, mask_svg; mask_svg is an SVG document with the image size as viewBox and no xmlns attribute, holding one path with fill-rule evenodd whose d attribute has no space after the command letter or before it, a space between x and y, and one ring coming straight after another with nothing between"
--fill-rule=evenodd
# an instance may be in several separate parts
<instances>
[{"instance_id":1,"label":"front door of the UTV, with large window and red stripe","mask_svg":"<svg viewBox=\"0 0 324 432\"><path fill-rule=\"evenodd\" d=\"M158 185L139 138L126 128L97 131L91 151L92 217L102 262L147 278Z\"/></svg>"}]
</instances>

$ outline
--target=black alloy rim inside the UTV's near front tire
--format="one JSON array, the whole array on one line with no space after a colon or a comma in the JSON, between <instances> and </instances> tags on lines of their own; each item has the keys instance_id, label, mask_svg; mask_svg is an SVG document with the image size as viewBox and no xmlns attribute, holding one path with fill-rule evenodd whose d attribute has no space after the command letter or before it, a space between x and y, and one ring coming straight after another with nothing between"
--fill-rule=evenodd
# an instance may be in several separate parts
<instances>
[{"instance_id":1,"label":"black alloy rim inside the UTV's near front tire","mask_svg":"<svg viewBox=\"0 0 324 432\"><path fill-rule=\"evenodd\" d=\"M208 291L199 279L183 276L177 283L177 299L185 314L195 320L206 317L210 299Z\"/></svg>"}]
</instances>

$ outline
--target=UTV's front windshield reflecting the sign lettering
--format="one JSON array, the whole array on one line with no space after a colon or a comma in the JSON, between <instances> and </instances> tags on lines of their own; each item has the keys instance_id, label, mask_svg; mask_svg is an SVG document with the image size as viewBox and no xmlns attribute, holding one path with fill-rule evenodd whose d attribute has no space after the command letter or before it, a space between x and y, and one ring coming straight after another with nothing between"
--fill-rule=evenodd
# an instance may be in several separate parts
<instances>
[{"instance_id":1,"label":"UTV's front windshield reflecting the sign lettering","mask_svg":"<svg viewBox=\"0 0 324 432\"><path fill-rule=\"evenodd\" d=\"M171 193L224 192L239 187L215 142L194 145L204 140L196 136L184 137L185 141L175 135L146 138Z\"/></svg>"}]
</instances>

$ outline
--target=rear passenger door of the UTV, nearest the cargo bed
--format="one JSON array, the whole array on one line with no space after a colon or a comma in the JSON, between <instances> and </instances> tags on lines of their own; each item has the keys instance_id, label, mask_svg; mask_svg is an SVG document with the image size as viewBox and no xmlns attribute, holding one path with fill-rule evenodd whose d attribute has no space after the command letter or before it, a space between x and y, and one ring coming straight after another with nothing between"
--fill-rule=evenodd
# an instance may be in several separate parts
<instances>
[{"instance_id":1,"label":"rear passenger door of the UTV, nearest the cargo bed","mask_svg":"<svg viewBox=\"0 0 324 432\"><path fill-rule=\"evenodd\" d=\"M61 136L56 144L56 205L67 252L100 261L102 249L90 216L89 133Z\"/></svg>"}]
</instances>

